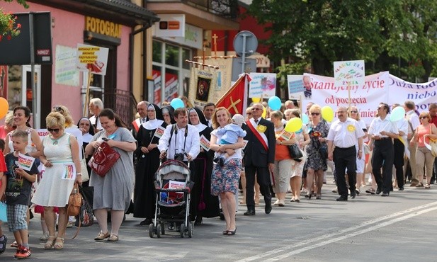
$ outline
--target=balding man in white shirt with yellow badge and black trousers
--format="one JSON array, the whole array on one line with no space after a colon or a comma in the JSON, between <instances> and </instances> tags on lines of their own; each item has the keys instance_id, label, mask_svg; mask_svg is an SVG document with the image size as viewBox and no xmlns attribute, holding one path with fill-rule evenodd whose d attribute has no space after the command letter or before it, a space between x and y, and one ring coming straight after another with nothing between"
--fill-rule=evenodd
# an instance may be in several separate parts
<instances>
[{"instance_id":1,"label":"balding man in white shirt with yellow badge and black trousers","mask_svg":"<svg viewBox=\"0 0 437 262\"><path fill-rule=\"evenodd\" d=\"M337 201L348 200L348 187L346 185L346 168L348 169L348 182L351 189L351 198L356 197L356 158L363 157L364 131L357 120L348 118L347 108L341 106L337 109L337 118L329 127L328 159L334 160L336 183L340 197ZM356 152L358 144L358 152ZM333 149L333 146L335 148Z\"/></svg>"}]
</instances>

